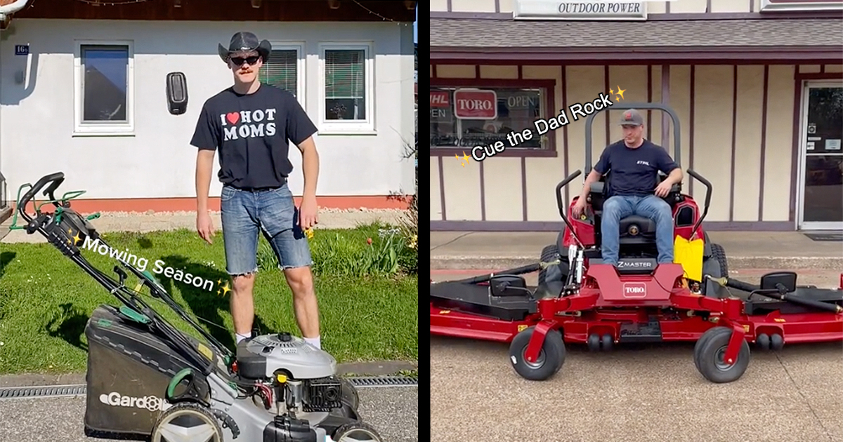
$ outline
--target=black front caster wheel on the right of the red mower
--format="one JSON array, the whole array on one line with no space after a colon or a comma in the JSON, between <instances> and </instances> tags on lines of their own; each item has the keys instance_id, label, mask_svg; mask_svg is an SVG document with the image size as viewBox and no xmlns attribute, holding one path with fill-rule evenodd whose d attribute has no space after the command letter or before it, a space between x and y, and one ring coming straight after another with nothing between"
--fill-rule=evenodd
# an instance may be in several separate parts
<instances>
[{"instance_id":1,"label":"black front caster wheel on the right of the red mower","mask_svg":"<svg viewBox=\"0 0 843 442\"><path fill-rule=\"evenodd\" d=\"M708 381L716 383L737 381L749 366L749 343L746 339L741 342L738 360L732 365L723 361L730 338L732 338L731 328L715 327L703 333L697 342L698 345L694 349L696 368Z\"/></svg>"}]
</instances>

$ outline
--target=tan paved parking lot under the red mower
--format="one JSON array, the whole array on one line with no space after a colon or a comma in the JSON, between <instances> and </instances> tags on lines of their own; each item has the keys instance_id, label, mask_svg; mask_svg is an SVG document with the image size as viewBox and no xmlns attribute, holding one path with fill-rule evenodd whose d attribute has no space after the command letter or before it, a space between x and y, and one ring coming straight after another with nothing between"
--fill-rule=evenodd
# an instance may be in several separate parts
<instances>
[{"instance_id":1,"label":"tan paved parking lot under the red mower","mask_svg":"<svg viewBox=\"0 0 843 442\"><path fill-rule=\"evenodd\" d=\"M433 279L482 273L448 272ZM800 285L840 282L839 272L798 272ZM763 273L733 277L754 282ZM699 374L693 348L638 344L590 353L568 345L554 377L526 381L505 343L431 337L431 440L843 441L843 343L754 351L743 377L728 384Z\"/></svg>"}]
</instances>

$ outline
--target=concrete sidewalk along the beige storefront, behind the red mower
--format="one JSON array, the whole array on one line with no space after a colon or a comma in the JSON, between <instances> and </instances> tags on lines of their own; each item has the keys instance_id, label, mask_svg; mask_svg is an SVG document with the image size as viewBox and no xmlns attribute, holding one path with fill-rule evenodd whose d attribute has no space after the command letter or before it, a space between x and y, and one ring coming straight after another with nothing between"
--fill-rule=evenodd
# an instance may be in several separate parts
<instances>
[{"instance_id":1,"label":"concrete sidewalk along the beige storefront, behind the red mower","mask_svg":"<svg viewBox=\"0 0 843 442\"><path fill-rule=\"evenodd\" d=\"M430 232L431 269L512 269L538 261L558 232ZM729 269L828 269L843 272L843 242L801 232L709 232Z\"/></svg>"}]
</instances>

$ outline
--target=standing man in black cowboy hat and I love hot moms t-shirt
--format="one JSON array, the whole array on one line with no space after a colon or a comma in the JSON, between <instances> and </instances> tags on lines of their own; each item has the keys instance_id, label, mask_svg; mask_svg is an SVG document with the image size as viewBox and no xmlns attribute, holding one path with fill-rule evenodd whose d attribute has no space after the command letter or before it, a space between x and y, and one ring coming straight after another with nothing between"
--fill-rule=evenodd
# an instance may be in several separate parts
<instances>
[{"instance_id":1,"label":"standing man in black cowboy hat and I love hot moms t-shirt","mask_svg":"<svg viewBox=\"0 0 843 442\"><path fill-rule=\"evenodd\" d=\"M196 231L212 242L208 190L214 153L219 150L218 178L226 270L233 279L231 313L237 343L250 338L255 307L252 289L257 272L258 234L274 250L293 291L293 308L303 338L319 343L319 307L314 292L310 248L304 231L317 222L316 179L319 154L316 126L292 93L258 80L271 45L250 32L238 32L219 56L234 75L234 85L207 99L191 145L196 156ZM287 159L292 141L303 157L304 192L296 208L287 187L293 164Z\"/></svg>"}]
</instances>

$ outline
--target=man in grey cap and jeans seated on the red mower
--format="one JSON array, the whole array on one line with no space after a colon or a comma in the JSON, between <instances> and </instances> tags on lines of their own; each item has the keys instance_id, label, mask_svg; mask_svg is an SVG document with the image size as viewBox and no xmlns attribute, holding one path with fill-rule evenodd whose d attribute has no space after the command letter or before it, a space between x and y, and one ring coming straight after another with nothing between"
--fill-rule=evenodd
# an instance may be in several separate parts
<instances>
[{"instance_id":1,"label":"man in grey cap and jeans seated on the red mower","mask_svg":"<svg viewBox=\"0 0 843 442\"><path fill-rule=\"evenodd\" d=\"M682 182L682 169L662 146L645 140L644 117L636 109L624 111L620 118L624 139L606 146L600 159L583 185L573 216L580 216L585 209L591 184L612 171L609 199L603 203L600 224L600 246L604 264L618 265L620 248L620 220L637 215L656 223L658 264L674 262L674 219L668 203L662 198L670 188ZM661 183L658 172L668 175Z\"/></svg>"}]
</instances>

